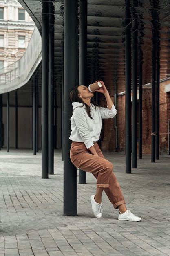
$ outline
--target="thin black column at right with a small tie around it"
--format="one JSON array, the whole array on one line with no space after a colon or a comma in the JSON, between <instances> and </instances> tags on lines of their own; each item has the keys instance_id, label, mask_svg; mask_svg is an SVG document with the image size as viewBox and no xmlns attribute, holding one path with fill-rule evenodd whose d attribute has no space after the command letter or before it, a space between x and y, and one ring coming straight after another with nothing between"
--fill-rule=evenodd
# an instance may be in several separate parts
<instances>
[{"instance_id":1,"label":"thin black column at right with a small tie around it","mask_svg":"<svg viewBox=\"0 0 170 256\"><path fill-rule=\"evenodd\" d=\"M156 45L152 49L152 131L151 131L151 162L155 162L155 85L156 85Z\"/></svg>"}]
</instances>

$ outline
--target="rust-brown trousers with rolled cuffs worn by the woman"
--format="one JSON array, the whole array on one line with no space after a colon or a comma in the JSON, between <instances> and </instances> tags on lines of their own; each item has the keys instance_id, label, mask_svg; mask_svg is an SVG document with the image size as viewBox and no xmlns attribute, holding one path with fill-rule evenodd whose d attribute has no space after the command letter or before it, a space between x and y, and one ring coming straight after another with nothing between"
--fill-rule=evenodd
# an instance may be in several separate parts
<instances>
[{"instance_id":1,"label":"rust-brown trousers with rolled cuffs worn by the woman","mask_svg":"<svg viewBox=\"0 0 170 256\"><path fill-rule=\"evenodd\" d=\"M125 204L119 182L113 173L113 164L104 158L97 143L95 150L98 154L92 155L83 142L72 142L70 150L71 162L81 170L92 173L97 179L96 186L104 188L106 195L115 209Z\"/></svg>"}]
</instances>

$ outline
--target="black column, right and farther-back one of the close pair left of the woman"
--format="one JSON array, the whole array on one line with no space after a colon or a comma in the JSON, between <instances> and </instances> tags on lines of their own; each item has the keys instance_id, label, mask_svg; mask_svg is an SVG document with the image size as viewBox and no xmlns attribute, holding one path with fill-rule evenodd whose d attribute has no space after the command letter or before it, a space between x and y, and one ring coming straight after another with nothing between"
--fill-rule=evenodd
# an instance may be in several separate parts
<instances>
[{"instance_id":1,"label":"black column, right and farther-back one of the close pair left of the woman","mask_svg":"<svg viewBox=\"0 0 170 256\"><path fill-rule=\"evenodd\" d=\"M49 3L49 174L54 174L54 14L53 3Z\"/></svg>"}]
</instances>

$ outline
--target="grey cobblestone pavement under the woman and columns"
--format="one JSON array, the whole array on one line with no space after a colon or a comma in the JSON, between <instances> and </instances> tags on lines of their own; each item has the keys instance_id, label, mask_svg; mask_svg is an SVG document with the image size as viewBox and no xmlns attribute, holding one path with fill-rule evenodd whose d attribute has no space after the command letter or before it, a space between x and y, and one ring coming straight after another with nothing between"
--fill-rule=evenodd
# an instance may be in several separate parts
<instances>
[{"instance_id":1,"label":"grey cobblestone pavement under the woman and columns","mask_svg":"<svg viewBox=\"0 0 170 256\"><path fill-rule=\"evenodd\" d=\"M63 161L55 150L55 174L41 178L41 153L0 151L0 256L170 255L170 156L151 163L144 155L125 173L124 153L104 153L114 164L126 206L141 222L119 221L103 193L102 218L91 210L96 181L77 184L77 216L63 216ZM77 173L78 177L78 173Z\"/></svg>"}]
</instances>

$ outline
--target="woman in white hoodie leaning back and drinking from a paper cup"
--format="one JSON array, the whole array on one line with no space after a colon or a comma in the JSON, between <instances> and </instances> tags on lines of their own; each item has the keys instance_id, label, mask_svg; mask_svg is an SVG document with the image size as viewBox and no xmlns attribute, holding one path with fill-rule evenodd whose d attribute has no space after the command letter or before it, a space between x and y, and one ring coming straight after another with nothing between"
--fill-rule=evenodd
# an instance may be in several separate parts
<instances>
[{"instance_id":1,"label":"woman in white hoodie leaning back and drinking from a paper cup","mask_svg":"<svg viewBox=\"0 0 170 256\"><path fill-rule=\"evenodd\" d=\"M92 173L97 179L96 195L91 195L95 217L102 217L102 192L104 190L113 207L119 209L118 220L141 221L141 218L126 208L119 183L113 173L113 164L104 158L97 144L102 129L102 118L113 118L117 113L104 82L99 82L102 83L102 87L95 91L104 94L107 108L92 103L93 92L90 92L84 85L76 86L70 93L73 105L69 137L72 141L71 162L77 168Z\"/></svg>"}]
</instances>

